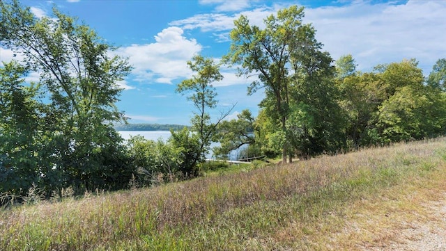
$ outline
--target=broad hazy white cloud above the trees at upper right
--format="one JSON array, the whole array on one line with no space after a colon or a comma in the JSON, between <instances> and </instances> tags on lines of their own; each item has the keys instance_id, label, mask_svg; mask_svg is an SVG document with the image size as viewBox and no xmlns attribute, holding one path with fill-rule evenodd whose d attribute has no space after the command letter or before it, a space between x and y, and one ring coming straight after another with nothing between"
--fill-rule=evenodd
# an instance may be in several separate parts
<instances>
[{"instance_id":1,"label":"broad hazy white cloud above the trees at upper right","mask_svg":"<svg viewBox=\"0 0 446 251\"><path fill-rule=\"evenodd\" d=\"M347 6L306 9L306 22L334 59L352 54L359 70L416 58L424 73L446 55L446 1L405 4L357 1Z\"/></svg>"}]
</instances>

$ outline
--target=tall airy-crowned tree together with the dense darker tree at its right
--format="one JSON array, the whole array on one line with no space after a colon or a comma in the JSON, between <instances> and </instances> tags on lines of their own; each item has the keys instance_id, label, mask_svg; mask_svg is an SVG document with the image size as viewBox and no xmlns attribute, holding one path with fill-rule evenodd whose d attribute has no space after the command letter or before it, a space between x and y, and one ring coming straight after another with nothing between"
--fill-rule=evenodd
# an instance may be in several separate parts
<instances>
[{"instance_id":1,"label":"tall airy-crowned tree together with the dense darker tree at its right","mask_svg":"<svg viewBox=\"0 0 446 251\"><path fill-rule=\"evenodd\" d=\"M303 8L291 6L267 17L260 29L242 15L234 22L226 55L226 62L240 65L240 75L259 75L248 94L265 90L259 106L269 126L263 136L273 135L269 148L281 148L284 162L296 153L309 156L344 146L332 58L321 51L314 27L303 24L303 17Z\"/></svg>"}]
</instances>

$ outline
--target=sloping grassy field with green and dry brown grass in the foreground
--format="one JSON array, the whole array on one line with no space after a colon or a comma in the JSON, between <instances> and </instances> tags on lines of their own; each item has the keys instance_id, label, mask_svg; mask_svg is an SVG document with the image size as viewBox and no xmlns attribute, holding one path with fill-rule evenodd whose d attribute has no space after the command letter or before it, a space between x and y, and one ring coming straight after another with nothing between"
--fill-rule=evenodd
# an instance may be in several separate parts
<instances>
[{"instance_id":1,"label":"sloping grassy field with green and dry brown grass in the foreground","mask_svg":"<svg viewBox=\"0 0 446 251\"><path fill-rule=\"evenodd\" d=\"M0 250L367 250L445 181L445 138L364 149L0 209Z\"/></svg>"}]
</instances>

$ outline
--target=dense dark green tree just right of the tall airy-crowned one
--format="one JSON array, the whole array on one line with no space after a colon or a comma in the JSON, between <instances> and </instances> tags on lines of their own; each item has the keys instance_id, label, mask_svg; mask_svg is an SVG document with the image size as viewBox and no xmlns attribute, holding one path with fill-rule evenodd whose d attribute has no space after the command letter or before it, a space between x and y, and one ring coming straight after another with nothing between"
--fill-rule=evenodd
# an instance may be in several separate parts
<instances>
[{"instance_id":1,"label":"dense dark green tree just right of the tall airy-crowned one","mask_svg":"<svg viewBox=\"0 0 446 251\"><path fill-rule=\"evenodd\" d=\"M294 56L294 55L293 55ZM321 44L299 52L291 78L288 138L302 158L345 148L345 119L334 84L332 58Z\"/></svg>"}]
</instances>

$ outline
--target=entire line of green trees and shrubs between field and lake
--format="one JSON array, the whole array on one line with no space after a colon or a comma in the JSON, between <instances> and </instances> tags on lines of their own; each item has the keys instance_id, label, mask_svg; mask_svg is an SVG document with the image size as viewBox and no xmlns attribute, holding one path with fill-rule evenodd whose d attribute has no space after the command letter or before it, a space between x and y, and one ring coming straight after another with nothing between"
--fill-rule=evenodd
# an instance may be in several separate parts
<instances>
[{"instance_id":1,"label":"entire line of green trees and shrubs between field and lake","mask_svg":"<svg viewBox=\"0 0 446 251\"><path fill-rule=\"evenodd\" d=\"M221 63L240 76L255 76L250 95L263 90L256 118L243 111L218 118L213 83L220 63L197 55L194 72L176 91L194 104L190 127L171 138L124 142L114 126L125 122L116 108L117 82L130 74L128 60L86 24L53 8L34 16L17 0L0 1L0 46L20 57L0 68L0 193L23 195L38 187L48 196L72 187L77 193L150 185L196 177L212 142L224 155L248 144L250 151L282 156L286 163L358 147L445 134L446 59L425 78L415 59L356 70L353 56L334 61L291 6L264 20L265 28L234 21L231 47ZM18 58L23 58L19 60ZM26 81L30 72L38 81Z\"/></svg>"}]
</instances>

